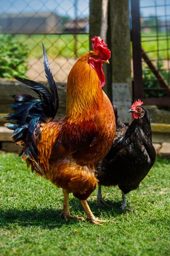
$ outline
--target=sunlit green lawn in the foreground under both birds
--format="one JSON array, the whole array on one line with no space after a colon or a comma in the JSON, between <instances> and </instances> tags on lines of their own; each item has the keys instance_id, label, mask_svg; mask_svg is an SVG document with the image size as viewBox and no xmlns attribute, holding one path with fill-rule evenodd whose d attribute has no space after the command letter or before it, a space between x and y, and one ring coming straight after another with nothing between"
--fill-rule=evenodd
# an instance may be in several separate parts
<instances>
[{"instance_id":1,"label":"sunlit green lawn in the foreground under both birds","mask_svg":"<svg viewBox=\"0 0 170 256\"><path fill-rule=\"evenodd\" d=\"M103 225L60 218L63 196L49 181L27 170L15 154L0 154L0 255L169 256L170 161L157 159L139 190L127 195L132 211L122 212L121 192L103 187L109 207L88 202ZM86 218L70 195L71 213Z\"/></svg>"}]
</instances>

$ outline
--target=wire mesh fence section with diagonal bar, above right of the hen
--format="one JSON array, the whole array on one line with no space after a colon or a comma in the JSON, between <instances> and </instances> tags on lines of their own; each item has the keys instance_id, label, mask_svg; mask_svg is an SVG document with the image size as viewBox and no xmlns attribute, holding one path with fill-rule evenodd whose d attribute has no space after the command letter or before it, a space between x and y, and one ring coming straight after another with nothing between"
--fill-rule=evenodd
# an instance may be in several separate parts
<instances>
[{"instance_id":1,"label":"wire mesh fence section with diagonal bar, above right of the hen","mask_svg":"<svg viewBox=\"0 0 170 256\"><path fill-rule=\"evenodd\" d=\"M170 0L139 0L144 97L170 96Z\"/></svg>"}]
</instances>

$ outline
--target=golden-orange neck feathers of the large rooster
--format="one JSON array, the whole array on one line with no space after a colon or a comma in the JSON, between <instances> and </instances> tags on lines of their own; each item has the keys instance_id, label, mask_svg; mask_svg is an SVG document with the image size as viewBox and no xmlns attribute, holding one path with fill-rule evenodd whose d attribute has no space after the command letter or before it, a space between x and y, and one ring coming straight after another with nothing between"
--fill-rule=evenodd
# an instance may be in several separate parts
<instances>
[{"instance_id":1,"label":"golden-orange neck feathers of the large rooster","mask_svg":"<svg viewBox=\"0 0 170 256\"><path fill-rule=\"evenodd\" d=\"M68 75L66 119L71 122L89 120L102 107L100 81L96 71L88 64L92 53L80 57Z\"/></svg>"}]
</instances>

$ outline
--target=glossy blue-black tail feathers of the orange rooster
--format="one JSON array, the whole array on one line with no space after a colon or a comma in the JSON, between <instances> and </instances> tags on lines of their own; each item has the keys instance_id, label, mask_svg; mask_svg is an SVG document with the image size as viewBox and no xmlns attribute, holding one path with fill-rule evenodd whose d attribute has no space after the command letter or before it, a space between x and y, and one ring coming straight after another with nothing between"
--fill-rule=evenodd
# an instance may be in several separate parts
<instances>
[{"instance_id":1,"label":"glossy blue-black tail feathers of the orange rooster","mask_svg":"<svg viewBox=\"0 0 170 256\"><path fill-rule=\"evenodd\" d=\"M40 123L53 119L59 105L57 86L43 44L42 47L44 70L50 90L42 83L15 76L16 80L25 84L23 86L34 90L39 98L26 93L11 95L14 102L9 106L13 111L5 117L10 121L5 126L14 130L12 140L23 146L22 159L29 158L35 162L35 165L39 154L36 140L41 138Z\"/></svg>"}]
</instances>

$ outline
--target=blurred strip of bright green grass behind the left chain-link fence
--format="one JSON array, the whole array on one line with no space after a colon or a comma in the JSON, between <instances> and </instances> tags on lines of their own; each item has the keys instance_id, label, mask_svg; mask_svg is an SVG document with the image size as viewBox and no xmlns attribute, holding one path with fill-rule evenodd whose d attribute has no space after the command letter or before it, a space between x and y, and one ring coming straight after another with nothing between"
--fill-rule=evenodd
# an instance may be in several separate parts
<instances>
[{"instance_id":1,"label":"blurred strip of bright green grass behind the left chain-link fence","mask_svg":"<svg viewBox=\"0 0 170 256\"><path fill-rule=\"evenodd\" d=\"M29 59L42 58L42 43L46 48L48 57L72 58L75 56L75 37L73 34L15 35L15 37L18 41L28 46L30 50ZM88 51L88 35L77 35L77 56L80 57Z\"/></svg>"}]
</instances>

